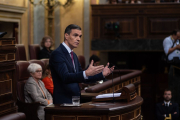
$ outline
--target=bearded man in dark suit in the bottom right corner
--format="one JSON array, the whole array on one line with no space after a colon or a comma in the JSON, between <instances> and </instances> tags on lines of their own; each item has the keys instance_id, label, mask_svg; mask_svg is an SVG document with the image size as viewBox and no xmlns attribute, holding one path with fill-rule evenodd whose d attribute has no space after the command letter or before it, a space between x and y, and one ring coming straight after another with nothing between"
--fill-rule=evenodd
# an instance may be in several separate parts
<instances>
[{"instance_id":1,"label":"bearded man in dark suit in the bottom right corner","mask_svg":"<svg viewBox=\"0 0 180 120\"><path fill-rule=\"evenodd\" d=\"M165 120L170 118L171 120L177 120L179 116L179 107L177 103L171 102L171 90L166 89L164 91L164 102L156 105L156 115L158 120Z\"/></svg>"}]
</instances>

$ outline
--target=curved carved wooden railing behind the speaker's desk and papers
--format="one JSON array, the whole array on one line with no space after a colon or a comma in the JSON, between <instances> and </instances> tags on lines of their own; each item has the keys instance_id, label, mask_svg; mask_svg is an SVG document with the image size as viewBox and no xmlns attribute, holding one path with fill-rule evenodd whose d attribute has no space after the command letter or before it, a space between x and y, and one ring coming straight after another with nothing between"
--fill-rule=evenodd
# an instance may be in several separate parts
<instances>
[{"instance_id":1,"label":"curved carved wooden railing behind the speaker's desk and papers","mask_svg":"<svg viewBox=\"0 0 180 120\"><path fill-rule=\"evenodd\" d=\"M129 84L134 84L138 96L141 96L141 74L140 70L115 70L113 72L114 92L120 92L122 88ZM108 81L89 87L86 93L112 93L112 76L108 76Z\"/></svg>"}]
</instances>

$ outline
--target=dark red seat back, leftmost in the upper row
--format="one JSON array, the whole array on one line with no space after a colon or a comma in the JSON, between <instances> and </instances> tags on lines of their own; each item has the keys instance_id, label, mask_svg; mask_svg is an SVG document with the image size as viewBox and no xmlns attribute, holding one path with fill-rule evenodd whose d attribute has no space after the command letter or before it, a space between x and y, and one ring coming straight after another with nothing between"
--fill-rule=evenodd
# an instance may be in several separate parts
<instances>
[{"instance_id":1,"label":"dark red seat back, leftmost in the upper row","mask_svg":"<svg viewBox=\"0 0 180 120\"><path fill-rule=\"evenodd\" d=\"M26 50L23 44L16 44L16 61L26 60Z\"/></svg>"}]
</instances>

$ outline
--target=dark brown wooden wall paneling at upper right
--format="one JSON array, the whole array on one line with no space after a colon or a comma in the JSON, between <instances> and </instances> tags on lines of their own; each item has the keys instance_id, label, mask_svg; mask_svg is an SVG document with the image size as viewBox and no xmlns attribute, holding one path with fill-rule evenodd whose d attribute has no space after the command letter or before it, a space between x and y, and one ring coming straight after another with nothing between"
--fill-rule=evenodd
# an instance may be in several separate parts
<instances>
[{"instance_id":1,"label":"dark brown wooden wall paneling at upper right","mask_svg":"<svg viewBox=\"0 0 180 120\"><path fill-rule=\"evenodd\" d=\"M180 29L179 14L176 3L92 5L92 39L115 39L107 22L119 22L120 39L164 39Z\"/></svg>"}]
</instances>

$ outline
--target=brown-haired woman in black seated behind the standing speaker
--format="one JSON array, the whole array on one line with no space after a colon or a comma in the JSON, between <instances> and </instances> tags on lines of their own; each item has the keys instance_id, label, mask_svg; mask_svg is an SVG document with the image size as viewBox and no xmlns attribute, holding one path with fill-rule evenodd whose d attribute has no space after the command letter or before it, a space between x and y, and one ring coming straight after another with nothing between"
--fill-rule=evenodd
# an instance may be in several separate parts
<instances>
[{"instance_id":1,"label":"brown-haired woman in black seated behind the standing speaker","mask_svg":"<svg viewBox=\"0 0 180 120\"><path fill-rule=\"evenodd\" d=\"M43 49L39 52L39 59L50 58L50 55L52 53L52 38L49 36L43 37L41 41L41 47Z\"/></svg>"}]
</instances>

